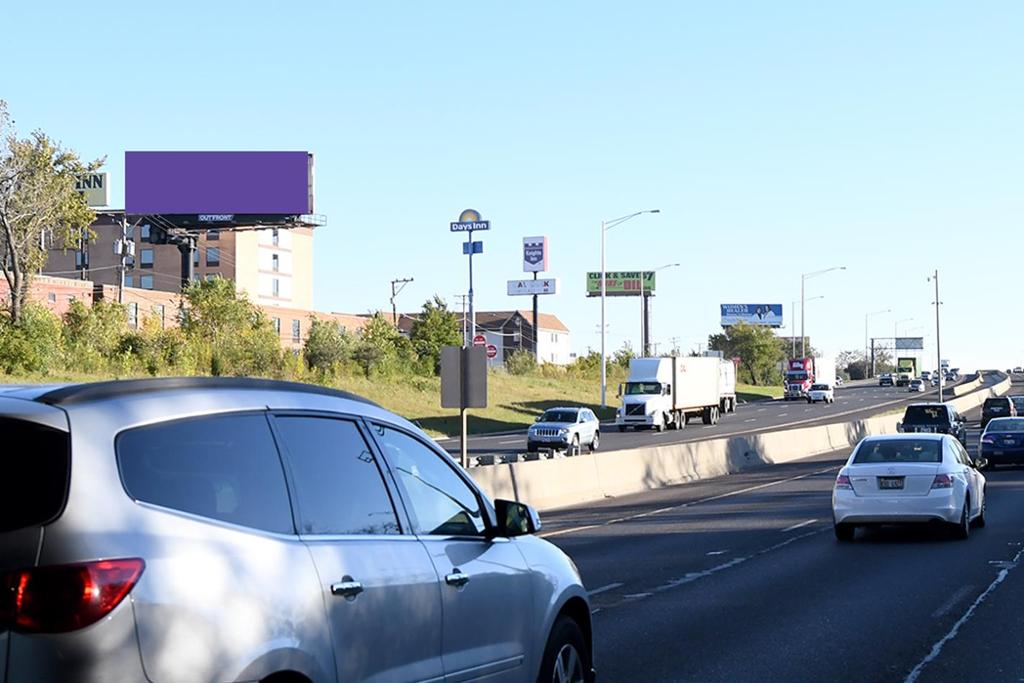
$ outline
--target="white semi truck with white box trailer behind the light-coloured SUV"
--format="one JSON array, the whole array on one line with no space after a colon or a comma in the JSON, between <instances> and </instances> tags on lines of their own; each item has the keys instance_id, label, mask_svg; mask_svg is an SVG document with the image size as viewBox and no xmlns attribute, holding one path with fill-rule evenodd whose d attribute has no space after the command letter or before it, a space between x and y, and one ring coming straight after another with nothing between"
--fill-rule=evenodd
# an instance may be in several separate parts
<instances>
[{"instance_id":1,"label":"white semi truck with white box trailer behind the light-coloured SUV","mask_svg":"<svg viewBox=\"0 0 1024 683\"><path fill-rule=\"evenodd\" d=\"M736 410L736 367L717 357L633 358L618 395L618 431L682 429L695 417L713 425Z\"/></svg>"}]
</instances>

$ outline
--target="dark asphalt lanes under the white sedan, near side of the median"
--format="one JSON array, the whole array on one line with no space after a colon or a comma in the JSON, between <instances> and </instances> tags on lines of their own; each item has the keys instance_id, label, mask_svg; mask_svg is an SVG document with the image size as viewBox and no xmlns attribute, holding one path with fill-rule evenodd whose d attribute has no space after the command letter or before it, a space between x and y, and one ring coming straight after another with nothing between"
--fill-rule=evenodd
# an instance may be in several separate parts
<instances>
[{"instance_id":1,"label":"dark asphalt lanes under the white sedan, near side of the median","mask_svg":"<svg viewBox=\"0 0 1024 683\"><path fill-rule=\"evenodd\" d=\"M544 515L591 593L599 679L1024 680L1024 469L986 472L988 525L966 542L886 527L840 544L848 455Z\"/></svg>"}]
</instances>

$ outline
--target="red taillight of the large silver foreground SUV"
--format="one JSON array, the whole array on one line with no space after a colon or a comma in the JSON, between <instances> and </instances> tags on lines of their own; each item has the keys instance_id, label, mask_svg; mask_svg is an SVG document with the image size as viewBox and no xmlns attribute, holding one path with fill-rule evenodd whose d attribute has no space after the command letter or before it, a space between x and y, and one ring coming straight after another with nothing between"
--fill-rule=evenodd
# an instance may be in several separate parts
<instances>
[{"instance_id":1,"label":"red taillight of the large silver foreground SUV","mask_svg":"<svg viewBox=\"0 0 1024 683\"><path fill-rule=\"evenodd\" d=\"M139 558L33 567L0 574L0 630L67 633L106 616L135 587Z\"/></svg>"}]
</instances>

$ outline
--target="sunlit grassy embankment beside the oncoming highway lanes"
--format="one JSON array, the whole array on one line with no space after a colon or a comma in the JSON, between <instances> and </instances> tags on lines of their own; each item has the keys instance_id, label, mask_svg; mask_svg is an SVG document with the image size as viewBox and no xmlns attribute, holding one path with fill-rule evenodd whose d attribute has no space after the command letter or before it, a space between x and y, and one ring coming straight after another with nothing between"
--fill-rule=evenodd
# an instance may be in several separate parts
<instances>
[{"instance_id":1,"label":"sunlit grassy embankment beside the oncoming highway lanes","mask_svg":"<svg viewBox=\"0 0 1024 683\"><path fill-rule=\"evenodd\" d=\"M74 373L31 377L0 375L0 384L58 384L110 379L114 378L110 375ZM525 429L537 416L554 405L587 405L602 420L613 418L620 381L622 378L614 371L608 373L608 404L612 408L602 411L600 380L567 376L516 377L493 372L487 378L487 408L469 411L470 430L482 433ZM432 436L459 433L459 411L440 407L441 385L436 377L340 377L333 385L417 422Z\"/></svg>"}]
</instances>

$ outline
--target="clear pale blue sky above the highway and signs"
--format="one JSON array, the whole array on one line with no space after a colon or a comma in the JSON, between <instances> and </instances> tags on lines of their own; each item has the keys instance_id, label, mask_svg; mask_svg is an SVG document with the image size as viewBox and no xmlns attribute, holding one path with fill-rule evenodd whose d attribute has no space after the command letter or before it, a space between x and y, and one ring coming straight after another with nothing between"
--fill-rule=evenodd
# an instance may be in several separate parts
<instances>
[{"instance_id":1,"label":"clear pale blue sky above the highway and signs","mask_svg":"<svg viewBox=\"0 0 1024 683\"><path fill-rule=\"evenodd\" d=\"M126 150L308 150L317 308L415 310L467 287L447 223L493 223L478 309L506 295L521 240L547 234L542 299L598 348L599 266L658 273L653 340L684 349L720 303L783 303L809 280L826 352L930 336L942 354L1024 364L1024 4L1006 2L47 2L5 4L0 97L18 129ZM612 300L609 347L639 344ZM798 321L799 328L799 321ZM799 329L798 329L799 332ZM935 358L934 350L929 357ZM930 362L929 365L934 365Z\"/></svg>"}]
</instances>

